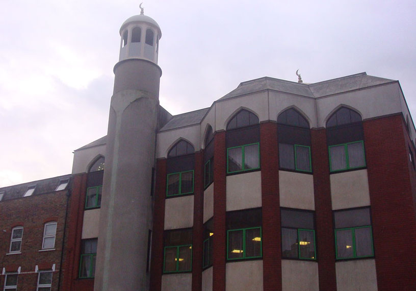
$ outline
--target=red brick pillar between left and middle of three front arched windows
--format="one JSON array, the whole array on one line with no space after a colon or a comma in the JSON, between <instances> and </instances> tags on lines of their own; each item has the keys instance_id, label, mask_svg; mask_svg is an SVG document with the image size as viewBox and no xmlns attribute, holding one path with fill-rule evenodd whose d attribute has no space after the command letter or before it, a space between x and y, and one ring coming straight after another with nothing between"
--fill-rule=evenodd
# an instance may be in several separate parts
<instances>
[{"instance_id":1,"label":"red brick pillar between left and middle of three front arched windows","mask_svg":"<svg viewBox=\"0 0 416 291\"><path fill-rule=\"evenodd\" d=\"M263 215L263 289L281 290L279 156L276 123L260 125Z\"/></svg>"}]
</instances>

